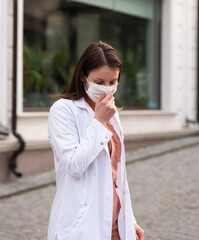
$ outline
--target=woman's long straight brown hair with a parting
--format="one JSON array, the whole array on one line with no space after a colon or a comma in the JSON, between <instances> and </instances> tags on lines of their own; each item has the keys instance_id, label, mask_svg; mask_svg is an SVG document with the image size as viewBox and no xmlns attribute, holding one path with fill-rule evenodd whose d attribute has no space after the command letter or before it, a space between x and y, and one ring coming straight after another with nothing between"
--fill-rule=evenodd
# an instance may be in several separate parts
<instances>
[{"instance_id":1,"label":"woman's long straight brown hair with a parting","mask_svg":"<svg viewBox=\"0 0 199 240\"><path fill-rule=\"evenodd\" d=\"M85 49L84 53L80 57L71 82L65 93L59 94L57 97L71 100L78 100L82 98L85 94L84 84L81 81L82 76L85 75L88 77L89 73L93 69L104 65L119 69L119 81L122 71L122 62L118 52L113 47L102 41L92 43Z\"/></svg>"}]
</instances>

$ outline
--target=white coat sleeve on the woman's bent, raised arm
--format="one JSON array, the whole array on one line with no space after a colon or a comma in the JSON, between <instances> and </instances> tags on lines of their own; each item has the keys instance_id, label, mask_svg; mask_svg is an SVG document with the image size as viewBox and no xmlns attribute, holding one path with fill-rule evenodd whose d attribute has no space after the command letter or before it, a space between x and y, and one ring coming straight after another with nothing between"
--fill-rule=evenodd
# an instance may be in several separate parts
<instances>
[{"instance_id":1,"label":"white coat sleeve on the woman's bent, raised arm","mask_svg":"<svg viewBox=\"0 0 199 240\"><path fill-rule=\"evenodd\" d=\"M69 175L80 178L105 148L112 133L93 119L80 139L75 122L71 107L56 104L51 107L48 129L54 154Z\"/></svg>"}]
</instances>

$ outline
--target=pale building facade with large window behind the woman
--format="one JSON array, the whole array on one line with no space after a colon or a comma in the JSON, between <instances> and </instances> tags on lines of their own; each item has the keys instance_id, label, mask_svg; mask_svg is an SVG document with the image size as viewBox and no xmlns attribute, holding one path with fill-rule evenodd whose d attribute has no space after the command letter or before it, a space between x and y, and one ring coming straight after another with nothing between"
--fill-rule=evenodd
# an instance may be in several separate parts
<instances>
[{"instance_id":1,"label":"pale building facade with large window behind the woman","mask_svg":"<svg viewBox=\"0 0 199 240\"><path fill-rule=\"evenodd\" d=\"M17 134L17 171L53 168L49 95L64 91L98 40L123 61L116 101L126 142L197 134L197 15L197 0L1 0L0 123L10 133L0 134L0 181L16 179Z\"/></svg>"}]
</instances>

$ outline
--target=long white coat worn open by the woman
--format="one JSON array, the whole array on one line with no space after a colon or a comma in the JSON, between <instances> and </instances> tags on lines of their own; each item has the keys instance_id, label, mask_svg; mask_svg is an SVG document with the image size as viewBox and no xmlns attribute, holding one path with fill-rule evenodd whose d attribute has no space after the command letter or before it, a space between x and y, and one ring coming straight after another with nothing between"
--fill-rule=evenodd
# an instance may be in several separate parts
<instances>
[{"instance_id":1,"label":"long white coat worn open by the woman","mask_svg":"<svg viewBox=\"0 0 199 240\"><path fill-rule=\"evenodd\" d=\"M121 141L117 194L121 240L135 240L136 223L125 169L124 139L116 112L110 123ZM108 141L112 133L94 119L85 101L60 99L50 109L49 139L54 152L56 195L48 240L111 240L113 182Z\"/></svg>"}]
</instances>

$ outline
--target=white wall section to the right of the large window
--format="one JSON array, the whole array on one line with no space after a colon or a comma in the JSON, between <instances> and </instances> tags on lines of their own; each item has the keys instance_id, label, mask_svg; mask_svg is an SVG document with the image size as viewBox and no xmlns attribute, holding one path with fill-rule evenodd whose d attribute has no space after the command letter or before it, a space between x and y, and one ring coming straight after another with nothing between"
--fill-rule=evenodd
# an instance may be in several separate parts
<instances>
[{"instance_id":1,"label":"white wall section to the right of the large window","mask_svg":"<svg viewBox=\"0 0 199 240\"><path fill-rule=\"evenodd\" d=\"M197 113L197 0L163 0L162 108L180 127Z\"/></svg>"}]
</instances>

